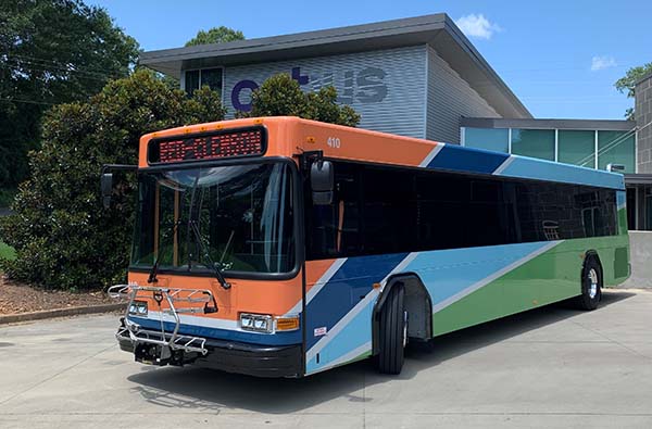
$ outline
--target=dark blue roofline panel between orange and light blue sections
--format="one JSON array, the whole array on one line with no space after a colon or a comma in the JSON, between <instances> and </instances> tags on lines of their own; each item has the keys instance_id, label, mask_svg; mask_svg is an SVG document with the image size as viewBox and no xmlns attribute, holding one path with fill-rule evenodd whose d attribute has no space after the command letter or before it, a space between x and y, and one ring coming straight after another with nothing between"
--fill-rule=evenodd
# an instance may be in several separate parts
<instances>
[{"instance_id":1,"label":"dark blue roofline panel between orange and light blue sections","mask_svg":"<svg viewBox=\"0 0 652 429\"><path fill-rule=\"evenodd\" d=\"M490 174L507 157L502 152L491 152L481 149L464 148L456 144L446 144L430 161L428 168L454 169L469 173Z\"/></svg>"}]
</instances>

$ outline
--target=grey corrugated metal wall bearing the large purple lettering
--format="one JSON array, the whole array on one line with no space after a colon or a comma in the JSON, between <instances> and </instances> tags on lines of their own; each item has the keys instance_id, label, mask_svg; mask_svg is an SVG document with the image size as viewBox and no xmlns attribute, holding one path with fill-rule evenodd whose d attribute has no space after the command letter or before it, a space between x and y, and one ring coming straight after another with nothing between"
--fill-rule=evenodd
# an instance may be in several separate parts
<instances>
[{"instance_id":1,"label":"grey corrugated metal wall bearing the large purple lettering","mask_svg":"<svg viewBox=\"0 0 652 429\"><path fill-rule=\"evenodd\" d=\"M274 74L291 73L292 68L300 67L300 74L309 76L309 83L302 88L313 90L334 85L341 101L361 114L361 128L424 138L426 49L424 45L226 67L224 102L228 109L227 117L235 113L231 91L237 83L249 79L261 85ZM240 102L249 102L249 90L243 90Z\"/></svg>"}]
</instances>

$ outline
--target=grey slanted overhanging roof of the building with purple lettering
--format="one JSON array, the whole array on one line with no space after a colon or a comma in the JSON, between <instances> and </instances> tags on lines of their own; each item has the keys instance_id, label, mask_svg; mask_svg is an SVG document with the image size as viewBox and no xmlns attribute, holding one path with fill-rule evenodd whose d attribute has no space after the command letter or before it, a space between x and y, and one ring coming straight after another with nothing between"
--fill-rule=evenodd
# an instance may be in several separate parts
<instances>
[{"instance_id":1,"label":"grey slanted overhanging roof of the building with purple lettering","mask_svg":"<svg viewBox=\"0 0 652 429\"><path fill-rule=\"evenodd\" d=\"M140 64L179 77L181 70L233 66L429 45L505 117L532 117L444 13L373 24L143 52Z\"/></svg>"}]
</instances>

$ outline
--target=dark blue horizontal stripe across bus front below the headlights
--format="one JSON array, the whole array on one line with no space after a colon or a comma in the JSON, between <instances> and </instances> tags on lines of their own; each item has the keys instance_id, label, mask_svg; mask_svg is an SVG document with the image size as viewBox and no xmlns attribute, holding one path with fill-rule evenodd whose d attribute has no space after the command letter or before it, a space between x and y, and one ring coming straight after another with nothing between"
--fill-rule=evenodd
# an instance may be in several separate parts
<instances>
[{"instance_id":1,"label":"dark blue horizontal stripe across bus front below the headlights","mask_svg":"<svg viewBox=\"0 0 652 429\"><path fill-rule=\"evenodd\" d=\"M129 316L129 320L137 323L143 328L153 329L156 331L161 330L161 321L154 319L146 319L141 317ZM174 324L171 321L163 323L166 332L174 331ZM179 327L179 333L187 336L201 337L205 339L215 339L224 341L238 341L251 344L261 345L289 345L301 343L301 331L296 330L291 332L277 332L277 333L254 333L243 332L240 330L209 328L197 325L185 325L181 324Z\"/></svg>"}]
</instances>

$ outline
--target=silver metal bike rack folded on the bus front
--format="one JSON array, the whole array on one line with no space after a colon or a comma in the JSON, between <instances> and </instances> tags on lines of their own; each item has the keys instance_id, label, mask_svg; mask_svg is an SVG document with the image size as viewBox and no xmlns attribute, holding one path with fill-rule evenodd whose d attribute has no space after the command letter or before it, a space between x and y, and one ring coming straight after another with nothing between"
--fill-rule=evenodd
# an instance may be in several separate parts
<instances>
[{"instance_id":1,"label":"silver metal bike rack folded on the bus front","mask_svg":"<svg viewBox=\"0 0 652 429\"><path fill-rule=\"evenodd\" d=\"M136 350L136 346L140 343L159 345L159 362L168 359L172 356L172 351L176 350L189 353L201 353L202 355L205 355L209 352L205 348L205 338L179 333L179 327L181 325L181 318L179 314L216 312L216 307L209 307L209 304L215 304L215 299L210 290L160 288L137 285L115 285L109 288L108 292L111 298L128 300L127 308L125 310L125 317L123 319L124 326L121 326L117 333L115 335L115 338L118 341L121 339L128 338L131 341L131 344L134 345L134 350ZM148 292L152 293L151 298L153 298L153 300L159 304L161 311L160 331L152 329L143 329L140 325L129 320L129 316L138 316L138 314L133 313L133 310L137 308L137 306L134 305L136 298L149 298L145 296L145 294L147 294ZM167 303L170 308L163 310L163 301ZM177 308L174 305L175 302L185 302L189 304L201 303L203 304L203 306ZM174 317L175 326L172 332L165 330L165 320L163 320L164 314L168 314Z\"/></svg>"}]
</instances>

